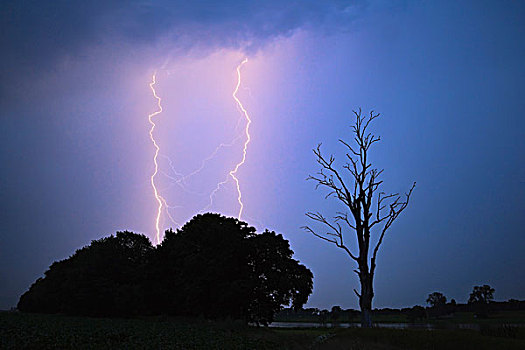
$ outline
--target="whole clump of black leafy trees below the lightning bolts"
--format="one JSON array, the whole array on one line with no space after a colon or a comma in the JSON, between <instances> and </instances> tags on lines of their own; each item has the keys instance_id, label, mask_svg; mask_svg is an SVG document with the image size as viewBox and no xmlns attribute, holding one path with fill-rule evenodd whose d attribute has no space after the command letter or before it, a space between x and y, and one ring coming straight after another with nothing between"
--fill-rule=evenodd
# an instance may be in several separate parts
<instances>
[{"instance_id":1,"label":"whole clump of black leafy trees below the lightning bolts","mask_svg":"<svg viewBox=\"0 0 525 350\"><path fill-rule=\"evenodd\" d=\"M117 232L53 263L20 298L27 312L89 316L181 315L266 324L300 308L313 275L282 235L219 214L197 215L153 247Z\"/></svg>"}]
</instances>

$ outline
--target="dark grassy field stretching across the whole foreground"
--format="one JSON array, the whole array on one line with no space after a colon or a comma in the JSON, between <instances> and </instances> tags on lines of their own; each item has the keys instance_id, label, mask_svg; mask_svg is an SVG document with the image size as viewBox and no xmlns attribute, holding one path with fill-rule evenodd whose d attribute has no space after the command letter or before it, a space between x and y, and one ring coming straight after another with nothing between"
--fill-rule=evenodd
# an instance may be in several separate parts
<instances>
[{"instance_id":1,"label":"dark grassy field stretching across the whole foreground","mask_svg":"<svg viewBox=\"0 0 525 350\"><path fill-rule=\"evenodd\" d=\"M525 328L267 329L235 322L0 312L0 349L525 349Z\"/></svg>"}]
</instances>

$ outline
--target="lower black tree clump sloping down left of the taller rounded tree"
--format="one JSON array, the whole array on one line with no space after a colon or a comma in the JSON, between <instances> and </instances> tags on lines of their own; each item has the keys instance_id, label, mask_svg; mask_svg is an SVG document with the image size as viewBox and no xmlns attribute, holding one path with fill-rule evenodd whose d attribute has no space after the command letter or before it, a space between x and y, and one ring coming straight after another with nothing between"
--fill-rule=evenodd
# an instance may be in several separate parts
<instances>
[{"instance_id":1,"label":"lower black tree clump sloping down left of the taller rounded tree","mask_svg":"<svg viewBox=\"0 0 525 350\"><path fill-rule=\"evenodd\" d=\"M143 314L142 279L153 249L147 237L128 231L92 241L54 262L20 297L18 309L89 316Z\"/></svg>"}]
</instances>

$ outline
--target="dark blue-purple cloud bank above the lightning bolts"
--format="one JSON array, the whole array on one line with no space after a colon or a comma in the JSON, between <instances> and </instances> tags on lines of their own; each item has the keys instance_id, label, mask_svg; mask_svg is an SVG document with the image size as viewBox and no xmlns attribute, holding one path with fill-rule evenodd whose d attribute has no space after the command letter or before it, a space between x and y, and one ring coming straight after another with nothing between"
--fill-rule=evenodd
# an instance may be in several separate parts
<instances>
[{"instance_id":1,"label":"dark blue-purple cloud bank above the lightning bolts","mask_svg":"<svg viewBox=\"0 0 525 350\"><path fill-rule=\"evenodd\" d=\"M60 58L99 45L179 53L218 46L257 50L300 27L345 26L358 5L355 0L3 1L0 78L6 81L15 71L38 74Z\"/></svg>"}]
</instances>

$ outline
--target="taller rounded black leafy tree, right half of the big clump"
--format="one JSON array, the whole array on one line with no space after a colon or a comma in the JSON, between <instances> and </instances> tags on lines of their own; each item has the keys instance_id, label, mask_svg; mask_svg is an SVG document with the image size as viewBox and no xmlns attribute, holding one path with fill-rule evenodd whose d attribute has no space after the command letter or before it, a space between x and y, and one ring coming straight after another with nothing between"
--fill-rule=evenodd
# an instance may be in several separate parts
<instances>
[{"instance_id":1,"label":"taller rounded black leafy tree, right half of the big clump","mask_svg":"<svg viewBox=\"0 0 525 350\"><path fill-rule=\"evenodd\" d=\"M159 312L267 324L282 305L300 308L312 292L312 273L292 255L275 232L197 215L166 231L150 269L152 300Z\"/></svg>"}]
</instances>

